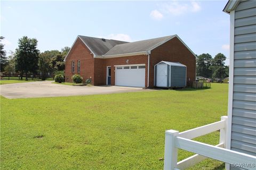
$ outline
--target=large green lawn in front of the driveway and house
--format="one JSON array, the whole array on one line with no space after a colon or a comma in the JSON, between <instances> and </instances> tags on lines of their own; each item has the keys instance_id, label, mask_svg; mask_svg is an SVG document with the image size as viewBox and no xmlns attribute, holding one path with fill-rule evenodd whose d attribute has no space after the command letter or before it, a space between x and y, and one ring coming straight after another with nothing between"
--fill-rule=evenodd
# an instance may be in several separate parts
<instances>
[{"instance_id":1,"label":"large green lawn in front of the driveway and house","mask_svg":"<svg viewBox=\"0 0 256 170\"><path fill-rule=\"evenodd\" d=\"M2 169L163 169L165 130L185 131L227 113L228 84L204 90L6 99ZM196 140L217 145L219 132ZM179 160L193 155L179 150ZM190 169L223 169L207 159Z\"/></svg>"}]
</instances>

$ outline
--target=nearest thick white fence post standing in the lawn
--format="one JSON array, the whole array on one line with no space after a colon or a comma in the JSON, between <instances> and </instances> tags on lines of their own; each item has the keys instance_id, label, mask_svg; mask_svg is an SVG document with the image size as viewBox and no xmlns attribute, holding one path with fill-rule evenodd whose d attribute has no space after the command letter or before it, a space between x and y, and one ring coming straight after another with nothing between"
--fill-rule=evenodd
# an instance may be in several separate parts
<instances>
[{"instance_id":1,"label":"nearest thick white fence post standing in the lawn","mask_svg":"<svg viewBox=\"0 0 256 170\"><path fill-rule=\"evenodd\" d=\"M179 131L175 130L165 131L164 170L177 168L178 149L175 147L175 137L178 134Z\"/></svg>"}]
</instances>

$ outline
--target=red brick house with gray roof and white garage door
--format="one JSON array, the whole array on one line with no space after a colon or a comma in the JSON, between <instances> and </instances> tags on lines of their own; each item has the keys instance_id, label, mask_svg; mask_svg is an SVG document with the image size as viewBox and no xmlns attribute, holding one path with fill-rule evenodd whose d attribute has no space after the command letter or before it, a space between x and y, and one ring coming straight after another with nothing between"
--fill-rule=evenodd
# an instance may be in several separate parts
<instances>
[{"instance_id":1,"label":"red brick house with gray roof and white garage door","mask_svg":"<svg viewBox=\"0 0 256 170\"><path fill-rule=\"evenodd\" d=\"M187 85L195 81L196 56L177 36L133 43L77 36L65 58L65 81L80 74L94 86L154 87L154 65L179 62L187 66Z\"/></svg>"}]
</instances>

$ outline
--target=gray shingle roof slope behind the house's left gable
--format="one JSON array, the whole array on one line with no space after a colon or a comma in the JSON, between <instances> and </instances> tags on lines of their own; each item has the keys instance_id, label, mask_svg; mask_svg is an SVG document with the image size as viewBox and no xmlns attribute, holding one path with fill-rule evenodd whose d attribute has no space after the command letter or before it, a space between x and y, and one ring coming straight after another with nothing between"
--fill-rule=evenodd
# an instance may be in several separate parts
<instances>
[{"instance_id":1,"label":"gray shingle roof slope behind the house's left gable","mask_svg":"<svg viewBox=\"0 0 256 170\"><path fill-rule=\"evenodd\" d=\"M113 39L105 39L102 40L101 38L94 38L94 37L87 37L87 36L78 36L82 39L84 44L91 50L91 52L95 55L103 55L106 54L111 48L116 45L128 43L125 41L118 41Z\"/></svg>"}]
</instances>

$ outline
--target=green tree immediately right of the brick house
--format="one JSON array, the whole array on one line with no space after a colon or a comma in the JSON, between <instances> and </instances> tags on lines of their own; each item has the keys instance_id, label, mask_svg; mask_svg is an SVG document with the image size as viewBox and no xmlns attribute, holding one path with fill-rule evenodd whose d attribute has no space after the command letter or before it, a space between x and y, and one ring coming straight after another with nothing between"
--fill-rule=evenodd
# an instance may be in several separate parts
<instances>
[{"instance_id":1,"label":"green tree immediately right of the brick house","mask_svg":"<svg viewBox=\"0 0 256 170\"><path fill-rule=\"evenodd\" d=\"M212 71L212 56L210 54L201 54L197 56L196 60L196 75L204 78L211 78Z\"/></svg>"}]
</instances>

